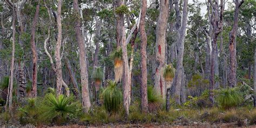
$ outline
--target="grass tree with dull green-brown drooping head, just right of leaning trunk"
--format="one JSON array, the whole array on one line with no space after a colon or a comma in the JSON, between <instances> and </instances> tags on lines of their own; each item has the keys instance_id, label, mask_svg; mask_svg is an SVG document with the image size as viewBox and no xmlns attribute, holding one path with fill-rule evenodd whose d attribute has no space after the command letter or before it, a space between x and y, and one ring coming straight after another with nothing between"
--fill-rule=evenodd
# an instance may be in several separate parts
<instances>
[{"instance_id":1,"label":"grass tree with dull green-brown drooping head, just right of leaning trunk","mask_svg":"<svg viewBox=\"0 0 256 128\"><path fill-rule=\"evenodd\" d=\"M103 80L103 70L100 67L96 67L95 71L92 74L92 79L93 82L95 82L95 100L96 103L98 104L98 100L97 100L97 92L99 91L99 86L102 83Z\"/></svg>"}]
</instances>

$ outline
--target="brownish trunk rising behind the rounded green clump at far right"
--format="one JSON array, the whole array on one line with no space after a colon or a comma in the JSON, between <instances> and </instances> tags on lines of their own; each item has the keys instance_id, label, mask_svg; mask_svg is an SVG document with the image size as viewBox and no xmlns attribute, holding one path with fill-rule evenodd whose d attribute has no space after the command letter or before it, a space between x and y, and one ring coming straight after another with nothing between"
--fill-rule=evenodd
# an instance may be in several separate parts
<instances>
[{"instance_id":1,"label":"brownish trunk rising behind the rounded green clump at far right","mask_svg":"<svg viewBox=\"0 0 256 128\"><path fill-rule=\"evenodd\" d=\"M237 29L238 29L238 14L239 8L241 4L244 3L244 0L239 2L239 0L235 0L235 11L234 11L234 24L233 28L229 33L229 40L230 40L230 73L229 73L229 80L228 86L234 87L237 86L237 44L235 42L235 37L237 36Z\"/></svg>"}]
</instances>

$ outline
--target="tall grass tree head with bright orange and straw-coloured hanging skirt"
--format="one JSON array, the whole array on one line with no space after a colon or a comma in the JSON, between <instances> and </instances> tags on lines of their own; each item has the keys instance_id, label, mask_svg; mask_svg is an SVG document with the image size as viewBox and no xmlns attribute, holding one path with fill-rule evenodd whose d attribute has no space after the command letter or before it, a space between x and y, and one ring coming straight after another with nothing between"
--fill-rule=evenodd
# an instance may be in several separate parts
<instances>
[{"instance_id":1,"label":"tall grass tree head with bright orange and straw-coloured hanging skirt","mask_svg":"<svg viewBox=\"0 0 256 128\"><path fill-rule=\"evenodd\" d=\"M114 60L114 80L119 82L123 76L122 49L118 48L110 53L110 58Z\"/></svg>"}]
</instances>

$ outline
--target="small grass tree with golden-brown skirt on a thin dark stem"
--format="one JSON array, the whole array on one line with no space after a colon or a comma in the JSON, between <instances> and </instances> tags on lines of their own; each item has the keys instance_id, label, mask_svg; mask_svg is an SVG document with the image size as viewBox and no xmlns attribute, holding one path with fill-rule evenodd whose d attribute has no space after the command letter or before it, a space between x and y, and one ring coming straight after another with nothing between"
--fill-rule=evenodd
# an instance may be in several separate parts
<instances>
[{"instance_id":1,"label":"small grass tree with golden-brown skirt on a thin dark stem","mask_svg":"<svg viewBox=\"0 0 256 128\"><path fill-rule=\"evenodd\" d=\"M170 109L170 93L171 93L171 85L172 80L175 76L175 68L172 66L172 64L166 65L164 68L164 79L166 84L166 110L168 111Z\"/></svg>"}]
</instances>

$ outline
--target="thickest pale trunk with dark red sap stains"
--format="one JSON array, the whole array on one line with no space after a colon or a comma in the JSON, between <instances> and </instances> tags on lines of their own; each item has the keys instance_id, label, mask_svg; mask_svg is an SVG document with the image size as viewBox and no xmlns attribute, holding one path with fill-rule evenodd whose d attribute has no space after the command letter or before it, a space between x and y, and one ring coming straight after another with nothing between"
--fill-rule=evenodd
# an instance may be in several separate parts
<instances>
[{"instance_id":1,"label":"thickest pale trunk with dark red sap stains","mask_svg":"<svg viewBox=\"0 0 256 128\"><path fill-rule=\"evenodd\" d=\"M165 45L166 45L166 29L169 17L169 1L160 1L160 14L157 21L156 29L156 67L154 73L154 89L163 98L165 98L165 80L163 77L163 67L165 64Z\"/></svg>"}]
</instances>

